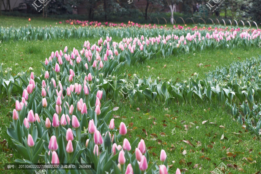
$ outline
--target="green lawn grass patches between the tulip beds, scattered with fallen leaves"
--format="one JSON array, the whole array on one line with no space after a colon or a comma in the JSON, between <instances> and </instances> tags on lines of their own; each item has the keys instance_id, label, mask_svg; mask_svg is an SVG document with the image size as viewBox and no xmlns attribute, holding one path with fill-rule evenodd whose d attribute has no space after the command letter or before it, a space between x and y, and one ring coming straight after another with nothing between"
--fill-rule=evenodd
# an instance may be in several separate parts
<instances>
[{"instance_id":1,"label":"green lawn grass patches between the tulip beds, scattered with fallen leaves","mask_svg":"<svg viewBox=\"0 0 261 174\"><path fill-rule=\"evenodd\" d=\"M4 17L3 19L7 20L8 25L12 25L11 19L14 18ZM37 23L35 25L38 26L50 25L54 22L49 19L37 19L35 21ZM17 23L17 21L13 22ZM1 18L0 26L3 25L2 23ZM26 23L23 23L23 25L26 25ZM42 67L39 61L48 58L52 51L63 50L65 46L68 46L69 50L72 50L73 47L82 48L85 40L94 43L97 39L8 42L0 48L0 58L1 62L5 64L4 68L11 67L14 74L32 67L35 74L39 75ZM116 38L114 41L120 40ZM180 81L191 77L191 74L195 72L199 73L199 77L204 77L204 73L214 70L217 66L226 66L231 61L243 61L257 54L261 54L261 48L204 50L146 60L135 66L123 66L115 73L124 73L128 70L128 73L131 74L136 73L147 77L152 75L153 78L159 76L164 80ZM203 64L201 67L198 66L200 63ZM15 66L15 64L18 65ZM163 68L164 65L166 65L166 68ZM147 66L150 66L150 68ZM2 130L0 142L3 139L8 142L8 147L0 145L0 173L10 173L10 171L3 170L4 163L10 163L17 158L22 159L6 133L6 126L9 126L9 122L12 120L8 113L14 109L14 103L6 100L6 98L3 98L0 101L0 127ZM125 122L126 125L133 123L133 125L130 124L130 130L126 137L128 136L131 143L137 137L139 139L144 138L146 147L150 147L150 161L158 160L160 150L164 149L168 155L169 173L174 173L176 168L183 169L186 173L209 173L221 162L231 166L227 166L230 173L240 173L240 170L244 170L246 173L260 171L260 138L246 132L238 122L232 119L226 109L218 104L194 103L183 106L177 104L165 106L162 102L144 103L142 105L114 102L110 105L110 108L112 109L115 106L118 106L119 110L113 111L111 118L120 117L115 118L115 126L119 126L120 122ZM137 111L136 108L140 110ZM208 121L202 124L206 120ZM214 124L211 124L211 122ZM196 128L197 126L198 128ZM220 128L220 126L225 128ZM221 139L223 134L224 138ZM182 140L189 140L193 145L182 142ZM184 150L186 150L186 153ZM158 161L158 164L161 164L161 162ZM11 173L24 172L11 171Z\"/></svg>"}]
</instances>

